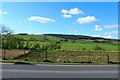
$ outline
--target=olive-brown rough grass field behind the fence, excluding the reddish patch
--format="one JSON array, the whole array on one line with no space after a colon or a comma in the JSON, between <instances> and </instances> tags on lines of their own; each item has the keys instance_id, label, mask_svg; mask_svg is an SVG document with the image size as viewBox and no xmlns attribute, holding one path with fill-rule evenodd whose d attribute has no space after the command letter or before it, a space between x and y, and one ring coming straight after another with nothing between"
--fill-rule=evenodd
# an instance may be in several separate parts
<instances>
[{"instance_id":1,"label":"olive-brown rough grass field behind the fence, excluding the reddish patch","mask_svg":"<svg viewBox=\"0 0 120 80\"><path fill-rule=\"evenodd\" d=\"M118 52L110 51L50 51L48 52L48 60L55 63L107 63L107 54L109 54L109 61L118 62ZM17 59L41 62L45 60L45 56L45 52L30 52Z\"/></svg>"}]
</instances>

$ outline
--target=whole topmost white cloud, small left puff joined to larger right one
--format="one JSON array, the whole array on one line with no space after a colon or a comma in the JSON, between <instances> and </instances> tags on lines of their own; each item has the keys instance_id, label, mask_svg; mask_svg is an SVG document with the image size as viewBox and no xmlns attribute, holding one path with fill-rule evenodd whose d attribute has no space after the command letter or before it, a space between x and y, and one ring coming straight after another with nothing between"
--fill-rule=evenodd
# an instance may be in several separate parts
<instances>
[{"instance_id":1,"label":"whole topmost white cloud, small left puff joined to larger right one","mask_svg":"<svg viewBox=\"0 0 120 80\"><path fill-rule=\"evenodd\" d=\"M78 8L73 8L73 9L70 9L70 10L65 10L65 9L62 9L61 12L63 14L84 14L84 12L82 10L79 10Z\"/></svg>"}]
</instances>

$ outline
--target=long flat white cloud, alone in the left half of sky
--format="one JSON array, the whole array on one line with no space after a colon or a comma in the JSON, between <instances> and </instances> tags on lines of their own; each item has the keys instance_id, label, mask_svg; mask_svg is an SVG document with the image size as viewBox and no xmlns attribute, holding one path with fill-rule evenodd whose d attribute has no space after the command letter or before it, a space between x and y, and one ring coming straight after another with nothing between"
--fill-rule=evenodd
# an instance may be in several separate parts
<instances>
[{"instance_id":1,"label":"long flat white cloud, alone in the left half of sky","mask_svg":"<svg viewBox=\"0 0 120 80\"><path fill-rule=\"evenodd\" d=\"M38 16L32 16L28 18L29 21L37 21L40 23L49 23L49 22L55 22L55 20L50 19L50 18L43 18L43 17L38 17Z\"/></svg>"}]
</instances>

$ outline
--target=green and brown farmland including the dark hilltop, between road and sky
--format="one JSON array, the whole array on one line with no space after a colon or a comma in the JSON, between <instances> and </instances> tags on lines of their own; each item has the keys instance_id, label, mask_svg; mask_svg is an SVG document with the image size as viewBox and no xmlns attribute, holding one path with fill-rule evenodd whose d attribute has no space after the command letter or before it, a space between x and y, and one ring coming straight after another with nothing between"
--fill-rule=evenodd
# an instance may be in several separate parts
<instances>
[{"instance_id":1,"label":"green and brown farmland including the dark hilltop, between road and sky","mask_svg":"<svg viewBox=\"0 0 120 80\"><path fill-rule=\"evenodd\" d=\"M3 36L3 41L6 41ZM118 40L94 38L89 36L77 36L74 35L13 35L16 38L20 38L26 46L27 41L31 46L30 49L3 49L5 50L6 59L17 59L20 61L35 61L42 62L46 58L46 51L41 50L43 46L49 44L60 45L60 48L47 51L47 59L50 62L57 63L108 63L119 62L118 61ZM84 37L84 38L83 38ZM31 50L35 45L39 44L40 49ZM96 50L96 46L101 48ZM16 51L23 51L18 52ZM13 51L13 52L10 52ZM27 52L29 51L29 52ZM25 53L26 52L26 53ZM4 55L3 55L4 56ZM108 59L109 58L109 59Z\"/></svg>"}]
</instances>

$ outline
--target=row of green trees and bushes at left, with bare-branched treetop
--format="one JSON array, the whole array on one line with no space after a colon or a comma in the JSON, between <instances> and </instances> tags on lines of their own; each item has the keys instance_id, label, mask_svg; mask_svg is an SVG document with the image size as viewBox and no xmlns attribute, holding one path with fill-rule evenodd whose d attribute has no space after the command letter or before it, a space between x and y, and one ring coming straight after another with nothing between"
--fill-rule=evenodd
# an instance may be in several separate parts
<instances>
[{"instance_id":1,"label":"row of green trees and bushes at left, with bare-branched treetop","mask_svg":"<svg viewBox=\"0 0 120 80\"><path fill-rule=\"evenodd\" d=\"M22 49L22 50L30 50L30 51L44 51L46 54L45 60L47 60L48 51L60 49L61 46L59 43L49 43L46 45L41 45L40 43L31 43L31 41L24 41L22 38L15 37L12 35L13 31L7 28L4 25L0 25L1 35L2 35L2 49L4 50L4 57L6 49Z\"/></svg>"}]
</instances>

